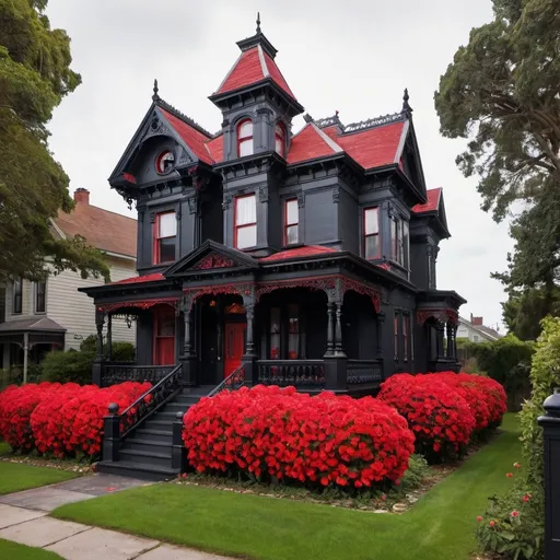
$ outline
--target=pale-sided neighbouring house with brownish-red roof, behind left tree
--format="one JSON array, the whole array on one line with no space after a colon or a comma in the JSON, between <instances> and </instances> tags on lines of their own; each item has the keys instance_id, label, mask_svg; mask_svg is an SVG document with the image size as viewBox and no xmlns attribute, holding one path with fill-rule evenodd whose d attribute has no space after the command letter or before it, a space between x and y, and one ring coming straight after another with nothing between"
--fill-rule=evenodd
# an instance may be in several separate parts
<instances>
[{"instance_id":1,"label":"pale-sided neighbouring house with brownish-red roof, behind left tree","mask_svg":"<svg viewBox=\"0 0 560 560\"><path fill-rule=\"evenodd\" d=\"M59 212L52 220L52 235L65 238L79 234L103 250L112 280L135 275L136 220L91 206L90 192L83 188L75 190L74 201L71 213ZM51 275L44 282L8 281L0 303L0 365L23 366L25 358L28 363L38 363L51 349L78 349L84 338L96 332L95 310L78 287L104 283L101 277L84 280L71 270ZM113 338L135 342L136 329L116 318Z\"/></svg>"}]
</instances>

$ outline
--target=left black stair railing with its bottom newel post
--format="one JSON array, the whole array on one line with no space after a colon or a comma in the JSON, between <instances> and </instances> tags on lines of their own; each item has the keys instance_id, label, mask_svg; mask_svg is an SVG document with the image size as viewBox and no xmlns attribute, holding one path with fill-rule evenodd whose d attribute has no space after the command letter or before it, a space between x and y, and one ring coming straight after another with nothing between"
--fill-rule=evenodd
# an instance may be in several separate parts
<instances>
[{"instance_id":1,"label":"left black stair railing with its bottom newel post","mask_svg":"<svg viewBox=\"0 0 560 560\"><path fill-rule=\"evenodd\" d=\"M183 366L176 365L160 382L138 397L121 413L118 405L108 406L108 416L104 418L103 460L118 460L121 441L141 422L155 413L183 389Z\"/></svg>"}]
</instances>

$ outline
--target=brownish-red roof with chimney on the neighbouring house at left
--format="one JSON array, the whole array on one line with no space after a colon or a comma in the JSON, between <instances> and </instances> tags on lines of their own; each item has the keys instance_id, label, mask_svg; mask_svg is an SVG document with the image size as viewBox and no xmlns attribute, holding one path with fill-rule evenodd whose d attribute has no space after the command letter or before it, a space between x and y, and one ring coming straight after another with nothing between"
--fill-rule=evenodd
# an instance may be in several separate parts
<instances>
[{"instance_id":1,"label":"brownish-red roof with chimney on the neighbouring house at left","mask_svg":"<svg viewBox=\"0 0 560 560\"><path fill-rule=\"evenodd\" d=\"M74 192L75 207L70 213L58 212L56 226L68 237L82 235L94 247L136 258L137 221L90 205L90 192Z\"/></svg>"}]
</instances>

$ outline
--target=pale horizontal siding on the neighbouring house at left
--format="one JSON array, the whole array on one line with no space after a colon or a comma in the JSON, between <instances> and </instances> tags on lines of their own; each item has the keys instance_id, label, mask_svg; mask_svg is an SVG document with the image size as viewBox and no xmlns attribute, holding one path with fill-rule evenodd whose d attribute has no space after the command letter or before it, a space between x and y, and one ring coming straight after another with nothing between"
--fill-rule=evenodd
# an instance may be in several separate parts
<instances>
[{"instance_id":1,"label":"pale horizontal siding on the neighbouring house at left","mask_svg":"<svg viewBox=\"0 0 560 560\"><path fill-rule=\"evenodd\" d=\"M113 282L136 276L132 260L107 258ZM83 339L95 335L95 306L93 300L78 288L103 285L103 278L83 279L79 273L65 270L51 276L47 282L47 315L67 329L66 350L79 349ZM105 326L106 331L106 326ZM121 318L113 319L113 340L136 343L136 327L128 328Z\"/></svg>"}]
</instances>

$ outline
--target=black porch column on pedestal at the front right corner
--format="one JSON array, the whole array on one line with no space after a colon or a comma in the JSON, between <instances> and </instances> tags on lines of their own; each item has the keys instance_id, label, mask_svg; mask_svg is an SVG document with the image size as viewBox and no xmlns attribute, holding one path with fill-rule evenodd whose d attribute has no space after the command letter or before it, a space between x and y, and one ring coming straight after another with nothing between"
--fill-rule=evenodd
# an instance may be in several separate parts
<instances>
[{"instance_id":1,"label":"black porch column on pedestal at the front right corner","mask_svg":"<svg viewBox=\"0 0 560 560\"><path fill-rule=\"evenodd\" d=\"M325 388L335 392L345 390L347 387L348 360L342 346L342 302L343 294L340 282L337 282L334 290L327 291L327 313L329 323L327 329L327 353L323 359L325 368ZM328 343L329 340L330 345Z\"/></svg>"}]
</instances>

